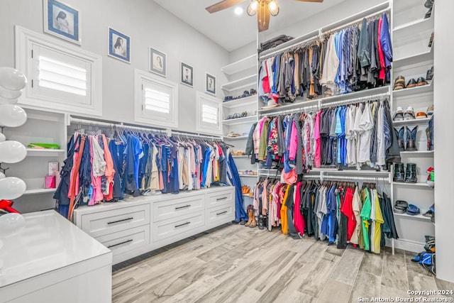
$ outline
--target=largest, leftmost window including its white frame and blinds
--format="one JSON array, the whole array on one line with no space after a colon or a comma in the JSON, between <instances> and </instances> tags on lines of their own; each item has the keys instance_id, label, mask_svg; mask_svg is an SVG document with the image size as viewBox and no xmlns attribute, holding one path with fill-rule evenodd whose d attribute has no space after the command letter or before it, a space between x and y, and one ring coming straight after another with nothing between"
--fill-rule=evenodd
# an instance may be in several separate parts
<instances>
[{"instance_id":1,"label":"largest, leftmost window including its white frame and blinds","mask_svg":"<svg viewBox=\"0 0 454 303\"><path fill-rule=\"evenodd\" d=\"M102 57L16 26L16 66L29 85L21 104L102 116Z\"/></svg>"}]
</instances>

